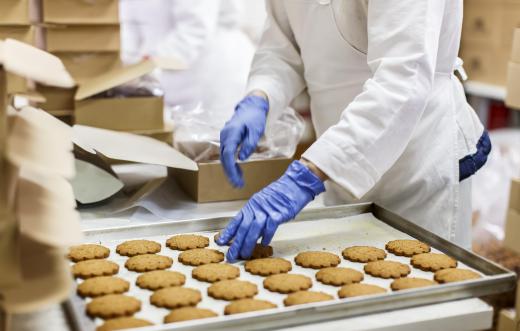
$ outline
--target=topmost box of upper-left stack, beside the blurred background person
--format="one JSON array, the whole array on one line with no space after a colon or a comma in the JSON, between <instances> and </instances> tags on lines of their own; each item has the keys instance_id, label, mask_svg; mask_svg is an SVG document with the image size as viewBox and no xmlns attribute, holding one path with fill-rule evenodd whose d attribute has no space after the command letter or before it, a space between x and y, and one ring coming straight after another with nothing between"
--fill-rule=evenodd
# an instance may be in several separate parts
<instances>
[{"instance_id":1,"label":"topmost box of upper-left stack, beside the blurred background person","mask_svg":"<svg viewBox=\"0 0 520 331\"><path fill-rule=\"evenodd\" d=\"M42 0L43 22L117 24L118 5L119 0Z\"/></svg>"}]
</instances>

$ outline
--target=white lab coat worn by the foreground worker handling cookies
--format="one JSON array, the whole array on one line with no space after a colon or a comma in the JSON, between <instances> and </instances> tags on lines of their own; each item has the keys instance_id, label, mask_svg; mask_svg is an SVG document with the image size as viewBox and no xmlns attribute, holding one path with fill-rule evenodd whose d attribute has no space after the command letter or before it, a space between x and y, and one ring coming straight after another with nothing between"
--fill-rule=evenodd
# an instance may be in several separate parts
<instances>
[{"instance_id":1,"label":"white lab coat worn by the foreground worker handling cookies","mask_svg":"<svg viewBox=\"0 0 520 331\"><path fill-rule=\"evenodd\" d=\"M326 203L374 201L469 247L458 160L483 127L453 75L462 0L267 7L248 91L267 93L270 123L307 87L318 139L303 157L330 177Z\"/></svg>"}]
</instances>

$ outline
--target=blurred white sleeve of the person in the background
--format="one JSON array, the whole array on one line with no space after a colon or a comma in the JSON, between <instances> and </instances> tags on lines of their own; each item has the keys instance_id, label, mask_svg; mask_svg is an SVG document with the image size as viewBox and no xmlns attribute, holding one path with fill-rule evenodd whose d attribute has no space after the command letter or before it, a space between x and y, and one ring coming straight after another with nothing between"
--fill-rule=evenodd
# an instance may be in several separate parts
<instances>
[{"instance_id":1,"label":"blurred white sleeve of the person in the background","mask_svg":"<svg viewBox=\"0 0 520 331\"><path fill-rule=\"evenodd\" d=\"M164 37L152 55L175 56L190 66L206 50L206 46L215 36L220 1L170 0L169 6L174 28Z\"/></svg>"}]
</instances>

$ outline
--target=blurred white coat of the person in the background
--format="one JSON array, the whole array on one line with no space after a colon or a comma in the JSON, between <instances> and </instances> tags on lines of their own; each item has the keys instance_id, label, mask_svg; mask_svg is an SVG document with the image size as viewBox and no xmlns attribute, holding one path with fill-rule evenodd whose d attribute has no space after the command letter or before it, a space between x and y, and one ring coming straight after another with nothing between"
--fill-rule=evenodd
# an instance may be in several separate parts
<instances>
[{"instance_id":1,"label":"blurred white coat of the person in the background","mask_svg":"<svg viewBox=\"0 0 520 331\"><path fill-rule=\"evenodd\" d=\"M236 0L121 0L120 12L124 62L175 56L190 67L160 74L169 105L232 112L254 54Z\"/></svg>"}]
</instances>

